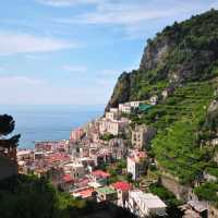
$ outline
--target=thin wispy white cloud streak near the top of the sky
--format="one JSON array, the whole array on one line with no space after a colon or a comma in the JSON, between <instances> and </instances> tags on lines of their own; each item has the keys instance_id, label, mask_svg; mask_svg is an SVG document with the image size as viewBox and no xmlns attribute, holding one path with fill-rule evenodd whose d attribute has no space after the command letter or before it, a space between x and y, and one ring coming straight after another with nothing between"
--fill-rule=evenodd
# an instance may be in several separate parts
<instances>
[{"instance_id":1,"label":"thin wispy white cloud streak near the top of the sky","mask_svg":"<svg viewBox=\"0 0 218 218\"><path fill-rule=\"evenodd\" d=\"M102 4L96 11L80 14L73 19L60 19L62 23L81 24L116 24L130 26L143 21L167 17L177 14L178 11L149 9L144 4Z\"/></svg>"}]
</instances>

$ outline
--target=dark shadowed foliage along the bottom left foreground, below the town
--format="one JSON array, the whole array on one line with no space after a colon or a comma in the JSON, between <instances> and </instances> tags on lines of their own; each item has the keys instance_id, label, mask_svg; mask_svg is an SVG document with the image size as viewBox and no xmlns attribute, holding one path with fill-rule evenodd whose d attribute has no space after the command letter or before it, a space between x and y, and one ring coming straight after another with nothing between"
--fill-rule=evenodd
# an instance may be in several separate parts
<instances>
[{"instance_id":1,"label":"dark shadowed foliage along the bottom left foreground, below the town","mask_svg":"<svg viewBox=\"0 0 218 218\"><path fill-rule=\"evenodd\" d=\"M2 218L134 217L110 203L75 199L44 178L22 174L0 182L0 205Z\"/></svg>"}]
</instances>

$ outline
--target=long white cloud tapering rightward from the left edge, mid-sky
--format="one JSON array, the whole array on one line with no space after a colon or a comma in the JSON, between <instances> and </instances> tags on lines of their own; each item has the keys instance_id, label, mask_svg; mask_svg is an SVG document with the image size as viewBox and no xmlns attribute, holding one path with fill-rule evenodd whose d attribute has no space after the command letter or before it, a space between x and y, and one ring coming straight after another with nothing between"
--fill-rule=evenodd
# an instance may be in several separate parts
<instances>
[{"instance_id":1,"label":"long white cloud tapering rightward from the left edge, mid-sky","mask_svg":"<svg viewBox=\"0 0 218 218\"><path fill-rule=\"evenodd\" d=\"M50 37L0 32L0 55L35 53L76 48L78 45Z\"/></svg>"}]
</instances>

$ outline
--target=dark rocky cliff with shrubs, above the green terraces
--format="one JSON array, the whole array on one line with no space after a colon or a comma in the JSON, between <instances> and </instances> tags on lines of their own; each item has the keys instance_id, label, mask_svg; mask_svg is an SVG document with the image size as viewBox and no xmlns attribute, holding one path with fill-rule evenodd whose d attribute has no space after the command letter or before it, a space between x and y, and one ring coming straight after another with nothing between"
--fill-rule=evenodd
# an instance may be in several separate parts
<instances>
[{"instance_id":1,"label":"dark rocky cliff with shrubs, above the green terraces","mask_svg":"<svg viewBox=\"0 0 218 218\"><path fill-rule=\"evenodd\" d=\"M119 77L107 109L128 100L147 99L170 84L216 76L217 33L216 10L167 26L153 40L148 39L140 69Z\"/></svg>"}]
</instances>

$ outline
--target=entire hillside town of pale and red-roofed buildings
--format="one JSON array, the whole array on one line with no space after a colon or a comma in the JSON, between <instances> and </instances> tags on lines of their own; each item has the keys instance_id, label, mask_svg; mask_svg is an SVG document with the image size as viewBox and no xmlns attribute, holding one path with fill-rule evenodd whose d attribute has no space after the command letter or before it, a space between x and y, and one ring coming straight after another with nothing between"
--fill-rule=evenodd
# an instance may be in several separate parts
<instances>
[{"instance_id":1,"label":"entire hillside town of pale and red-roofed buildings","mask_svg":"<svg viewBox=\"0 0 218 218\"><path fill-rule=\"evenodd\" d=\"M148 156L143 149L155 130L146 125L132 130L131 121L122 114L142 104L133 101L111 108L102 118L72 131L70 140L37 142L34 149L17 150L20 172L49 177L58 189L74 197L109 201L138 217L165 216L167 206L158 196L134 186L134 181L146 174ZM105 140L105 134L112 137ZM128 134L130 137L123 137ZM131 174L129 182L111 182L114 175L101 170L105 164L112 166L119 160L126 161L121 174Z\"/></svg>"}]
</instances>

